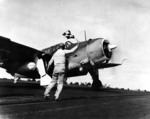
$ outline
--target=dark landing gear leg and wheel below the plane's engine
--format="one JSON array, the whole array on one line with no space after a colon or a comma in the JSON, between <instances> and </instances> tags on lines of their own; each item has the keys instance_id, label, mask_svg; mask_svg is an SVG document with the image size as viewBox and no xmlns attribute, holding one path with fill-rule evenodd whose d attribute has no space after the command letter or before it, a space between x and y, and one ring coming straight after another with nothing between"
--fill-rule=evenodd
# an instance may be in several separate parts
<instances>
[{"instance_id":1,"label":"dark landing gear leg and wheel below the plane's engine","mask_svg":"<svg viewBox=\"0 0 150 119\"><path fill-rule=\"evenodd\" d=\"M93 79L92 89L93 90L99 90L100 88L102 88L102 82L99 80L98 69L91 68L89 70L89 73Z\"/></svg>"}]
</instances>

